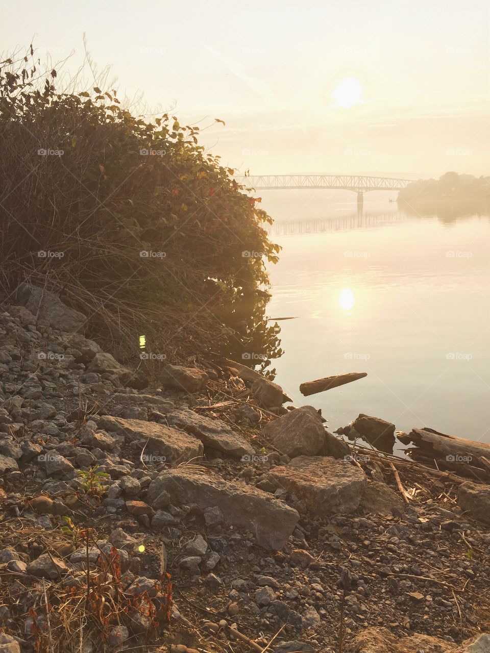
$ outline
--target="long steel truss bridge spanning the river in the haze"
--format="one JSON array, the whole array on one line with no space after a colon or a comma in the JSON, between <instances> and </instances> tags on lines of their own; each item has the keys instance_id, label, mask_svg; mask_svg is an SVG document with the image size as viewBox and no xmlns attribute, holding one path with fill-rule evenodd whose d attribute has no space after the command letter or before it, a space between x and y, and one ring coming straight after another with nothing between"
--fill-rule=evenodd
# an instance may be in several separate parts
<instances>
[{"instance_id":1,"label":"long steel truss bridge spanning the river in the haze","mask_svg":"<svg viewBox=\"0 0 490 653\"><path fill-rule=\"evenodd\" d=\"M241 175L238 183L256 191L269 189L336 188L357 193L362 200L367 191L393 191L405 188L412 179L370 177L359 174L263 174Z\"/></svg>"}]
</instances>

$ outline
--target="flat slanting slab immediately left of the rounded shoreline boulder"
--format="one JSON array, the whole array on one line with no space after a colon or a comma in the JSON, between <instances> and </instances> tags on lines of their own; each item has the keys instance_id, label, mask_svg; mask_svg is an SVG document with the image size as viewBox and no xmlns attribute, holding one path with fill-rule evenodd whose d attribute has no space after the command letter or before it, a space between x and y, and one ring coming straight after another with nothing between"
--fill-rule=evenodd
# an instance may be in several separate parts
<instances>
[{"instance_id":1,"label":"flat slanting slab immediately left of the rounded shoreline boulder","mask_svg":"<svg viewBox=\"0 0 490 653\"><path fill-rule=\"evenodd\" d=\"M231 430L220 419L210 419L191 410L179 410L171 413L167 417L167 421L172 426L177 426L199 438L204 447L212 447L212 449L222 451L229 456L243 456L244 454L253 456L255 453L246 439Z\"/></svg>"}]
</instances>

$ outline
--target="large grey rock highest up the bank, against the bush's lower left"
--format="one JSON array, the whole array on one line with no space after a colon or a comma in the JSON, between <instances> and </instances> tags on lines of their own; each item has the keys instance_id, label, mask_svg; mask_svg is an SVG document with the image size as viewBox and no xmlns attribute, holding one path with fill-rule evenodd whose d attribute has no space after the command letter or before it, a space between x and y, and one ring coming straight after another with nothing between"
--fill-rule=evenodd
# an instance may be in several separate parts
<instances>
[{"instance_id":1,"label":"large grey rock highest up the bank, against the bush's lower left","mask_svg":"<svg viewBox=\"0 0 490 653\"><path fill-rule=\"evenodd\" d=\"M56 293L28 283L20 283L15 291L16 300L38 316L41 325L60 331L84 332L87 319L83 313L65 306Z\"/></svg>"}]
</instances>

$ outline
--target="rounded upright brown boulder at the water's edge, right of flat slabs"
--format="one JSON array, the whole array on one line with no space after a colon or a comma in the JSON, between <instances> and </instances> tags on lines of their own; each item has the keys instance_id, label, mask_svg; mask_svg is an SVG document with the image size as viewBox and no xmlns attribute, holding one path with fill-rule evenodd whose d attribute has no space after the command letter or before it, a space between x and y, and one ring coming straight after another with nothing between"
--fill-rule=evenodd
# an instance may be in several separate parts
<instances>
[{"instance_id":1,"label":"rounded upright brown boulder at the water's edge, right of flat slabs","mask_svg":"<svg viewBox=\"0 0 490 653\"><path fill-rule=\"evenodd\" d=\"M346 443L325 431L321 416L313 406L289 411L263 427L263 433L276 449L289 458L318 453L344 457L350 453Z\"/></svg>"}]
</instances>

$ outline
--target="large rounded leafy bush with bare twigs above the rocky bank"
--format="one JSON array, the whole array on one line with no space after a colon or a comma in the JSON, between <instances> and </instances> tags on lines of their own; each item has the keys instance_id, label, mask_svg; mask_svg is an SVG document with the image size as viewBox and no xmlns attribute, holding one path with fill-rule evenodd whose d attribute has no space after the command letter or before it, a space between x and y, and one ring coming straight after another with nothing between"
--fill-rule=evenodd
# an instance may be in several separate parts
<instances>
[{"instance_id":1,"label":"large rounded leafy bush with bare twigs above the rocky bank","mask_svg":"<svg viewBox=\"0 0 490 653\"><path fill-rule=\"evenodd\" d=\"M0 63L0 300L25 280L60 293L119 353L140 333L170 358L216 346L277 260L260 199L197 127L57 89L39 65L32 46Z\"/></svg>"}]
</instances>

